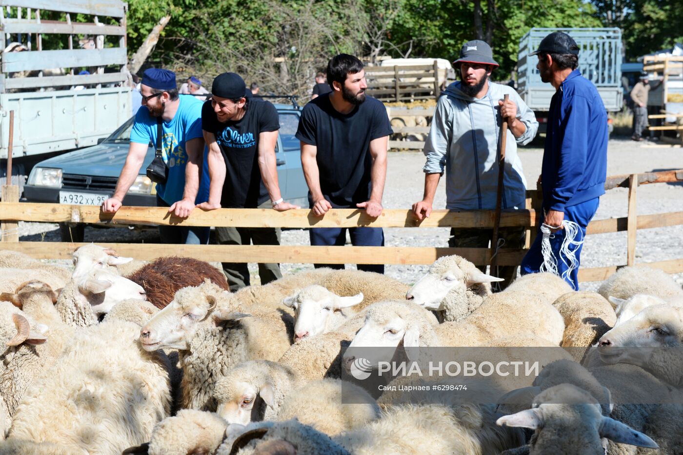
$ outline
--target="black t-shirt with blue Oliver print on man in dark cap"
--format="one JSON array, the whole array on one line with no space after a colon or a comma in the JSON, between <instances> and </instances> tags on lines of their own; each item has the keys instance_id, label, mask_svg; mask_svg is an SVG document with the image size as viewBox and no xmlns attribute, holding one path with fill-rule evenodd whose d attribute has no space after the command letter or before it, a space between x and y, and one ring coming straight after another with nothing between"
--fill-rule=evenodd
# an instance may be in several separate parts
<instances>
[{"instance_id":1,"label":"black t-shirt with blue Oliver print on man in dark cap","mask_svg":"<svg viewBox=\"0 0 683 455\"><path fill-rule=\"evenodd\" d=\"M270 197L258 167L260 133L280 129L277 110L265 100L249 100L247 112L237 122L221 123L210 101L201 107L201 127L216 136L225 160L221 207L255 208Z\"/></svg>"}]
</instances>

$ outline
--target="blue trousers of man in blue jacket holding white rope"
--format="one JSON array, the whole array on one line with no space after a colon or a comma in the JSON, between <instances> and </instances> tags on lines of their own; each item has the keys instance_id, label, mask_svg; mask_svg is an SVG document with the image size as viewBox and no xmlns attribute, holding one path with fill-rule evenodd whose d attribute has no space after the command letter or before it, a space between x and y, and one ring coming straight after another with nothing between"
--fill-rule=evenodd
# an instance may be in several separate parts
<instances>
[{"instance_id":1,"label":"blue trousers of man in blue jacket holding white rope","mask_svg":"<svg viewBox=\"0 0 683 455\"><path fill-rule=\"evenodd\" d=\"M576 204L575 206L564 208L564 219L568 221L574 221L574 223L579 225L581 228L578 238L574 240L583 240L586 236L586 226L593 219L596 211L598 210L598 205L600 204L600 197L595 199L590 199L589 201L582 202L581 204ZM550 234L550 248L553 250L553 254L557 259L557 271L562 275L566 270L567 266L565 262L569 262L566 257L560 257L560 247L562 241L564 240L565 230L559 230L553 234ZM543 254L541 253L541 242L543 240L543 234L541 232L540 226L538 228L538 235L529 248L527 256L522 259L522 264L520 271L522 275L527 275L527 273L538 273L543 264ZM570 247L570 251L574 252L576 256L576 261L581 263L581 249L582 245L579 247ZM574 268L572 273L570 273L566 281L574 288L574 290L579 290L579 267Z\"/></svg>"}]
</instances>

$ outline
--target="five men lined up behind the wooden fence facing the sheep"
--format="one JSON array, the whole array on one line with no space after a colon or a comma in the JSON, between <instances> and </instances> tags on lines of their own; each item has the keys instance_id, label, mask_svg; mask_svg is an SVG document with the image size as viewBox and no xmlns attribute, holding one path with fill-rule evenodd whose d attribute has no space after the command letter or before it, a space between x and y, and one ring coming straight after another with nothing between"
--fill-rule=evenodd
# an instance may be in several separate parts
<instances>
[{"instance_id":1,"label":"five men lined up behind the wooden fence facing the sheep","mask_svg":"<svg viewBox=\"0 0 683 455\"><path fill-rule=\"evenodd\" d=\"M538 55L542 80L556 89L541 184L544 224L554 232L550 245L559 273L568 267L563 258L566 251L560 248L563 223L578 224L581 238L575 240L583 239L607 175L607 114L596 87L576 70L578 54L574 40L561 32L550 33L532 53ZM437 102L423 150L427 157L424 196L413 204L417 219L430 216L444 171L447 208L495 208L502 122L508 127L502 207L524 208L527 183L516 144L529 143L538 122L514 89L489 80L497 66L490 46L479 40L467 42L454 61L460 81L449 85ZM365 94L365 72L357 57L336 55L326 74L318 76L317 96L303 108L296 133L309 207L319 217L331 208L361 208L368 216L378 217L383 210L387 145L392 134L387 111ZM158 206L168 206L178 217L187 217L195 207L298 208L283 201L277 180L277 111L270 102L252 97L238 74L220 74L213 81L210 100L201 102L178 95L172 72L147 70L141 93L143 107L135 118L128 158L115 193L102 204L105 212L121 206L148 143L156 143L157 122L163 127L163 156L169 167L167 183L157 185ZM508 100L503 100L505 95ZM207 228L163 227L160 231L164 243L208 242ZM449 246L487 247L490 231L454 228ZM279 245L277 229L217 228L216 232L221 244ZM344 228L313 228L309 235L311 245L344 245L346 241ZM349 235L353 245L385 243L381 228L350 228ZM500 237L502 247L519 248L524 245L525 231L503 228ZM522 274L540 270L544 261L541 238L537 237L523 260ZM581 242L572 245L571 253L578 261ZM359 265L359 269L382 273L384 266ZM231 290L250 284L246 264L224 263L223 270ZM262 284L281 277L279 264L259 264L259 273ZM504 288L516 276L516 266L500 267L491 274L505 280ZM576 270L566 279L578 289Z\"/></svg>"}]
</instances>

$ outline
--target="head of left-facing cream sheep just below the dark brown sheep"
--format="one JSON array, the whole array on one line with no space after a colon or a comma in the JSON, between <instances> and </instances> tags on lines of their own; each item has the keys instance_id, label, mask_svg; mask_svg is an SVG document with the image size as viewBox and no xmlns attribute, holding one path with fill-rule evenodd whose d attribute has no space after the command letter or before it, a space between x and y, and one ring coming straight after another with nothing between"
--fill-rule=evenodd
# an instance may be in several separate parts
<instances>
[{"instance_id":1,"label":"head of left-facing cream sheep just below the dark brown sheep","mask_svg":"<svg viewBox=\"0 0 683 455\"><path fill-rule=\"evenodd\" d=\"M219 305L223 289L206 279L203 284L182 288L173 301L155 314L140 331L140 342L145 350L173 348L187 350L190 340L203 325L219 325L223 321L251 316L230 312ZM220 306L220 307L219 307Z\"/></svg>"}]
</instances>

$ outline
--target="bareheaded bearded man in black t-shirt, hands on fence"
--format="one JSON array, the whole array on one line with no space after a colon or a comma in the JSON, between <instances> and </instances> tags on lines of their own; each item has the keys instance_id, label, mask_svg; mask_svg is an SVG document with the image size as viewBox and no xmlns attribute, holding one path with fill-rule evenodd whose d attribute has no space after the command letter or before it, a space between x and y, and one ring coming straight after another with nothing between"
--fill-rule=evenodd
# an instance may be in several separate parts
<instances>
[{"instance_id":1,"label":"bareheaded bearded man in black t-shirt, hands on fence","mask_svg":"<svg viewBox=\"0 0 683 455\"><path fill-rule=\"evenodd\" d=\"M382 214L387 176L387 143L393 133L382 102L365 96L367 83L357 57L339 54L327 64L332 92L311 100L301 112L296 137L313 213L330 208L364 208L370 217ZM350 228L353 245L384 246L381 228ZM344 245L346 229L313 228L311 245ZM344 268L343 264L315 264ZM359 270L384 273L384 265L359 265Z\"/></svg>"}]
</instances>

